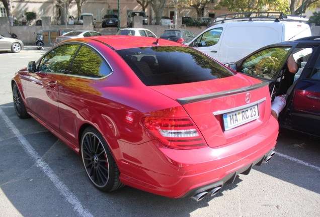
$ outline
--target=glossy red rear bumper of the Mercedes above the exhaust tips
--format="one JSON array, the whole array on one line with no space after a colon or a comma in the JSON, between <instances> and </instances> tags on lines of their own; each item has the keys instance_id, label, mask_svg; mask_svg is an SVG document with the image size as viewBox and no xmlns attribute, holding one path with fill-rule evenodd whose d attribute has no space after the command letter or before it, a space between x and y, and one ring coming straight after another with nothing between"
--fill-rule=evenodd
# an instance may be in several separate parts
<instances>
[{"instance_id":1,"label":"glossy red rear bumper of the Mercedes above the exhaust tips","mask_svg":"<svg viewBox=\"0 0 320 217\"><path fill-rule=\"evenodd\" d=\"M174 150L148 142L130 148L130 159L117 162L122 183L171 198L193 195L232 183L261 165L276 145L278 122L271 117L259 132L236 143L215 148ZM125 150L124 144L119 144ZM142 153L143 152L143 153ZM137 153L136 158L134 154ZM141 155L144 155L141 158ZM123 153L123 156L127 154ZM135 161L143 159L143 161Z\"/></svg>"}]
</instances>

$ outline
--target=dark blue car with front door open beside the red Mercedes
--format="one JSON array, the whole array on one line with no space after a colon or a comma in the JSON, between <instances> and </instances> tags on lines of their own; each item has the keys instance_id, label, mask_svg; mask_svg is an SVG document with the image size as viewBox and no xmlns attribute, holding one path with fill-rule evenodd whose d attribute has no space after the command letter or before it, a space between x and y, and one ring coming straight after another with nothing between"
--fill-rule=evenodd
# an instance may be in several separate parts
<instances>
[{"instance_id":1,"label":"dark blue car with front door open beside the red Mercedes","mask_svg":"<svg viewBox=\"0 0 320 217\"><path fill-rule=\"evenodd\" d=\"M237 72L268 82L273 98L281 88L286 60L293 55L299 70L291 77L292 85L286 94L286 107L279 114L279 124L315 136L320 136L319 39L320 36L314 36L268 45L228 64Z\"/></svg>"}]
</instances>

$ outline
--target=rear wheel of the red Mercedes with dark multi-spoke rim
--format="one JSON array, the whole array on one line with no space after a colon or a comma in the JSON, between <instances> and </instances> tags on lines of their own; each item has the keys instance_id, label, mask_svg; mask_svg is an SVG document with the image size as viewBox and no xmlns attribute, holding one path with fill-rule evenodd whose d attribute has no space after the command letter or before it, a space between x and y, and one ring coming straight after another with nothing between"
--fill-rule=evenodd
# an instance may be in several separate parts
<instances>
[{"instance_id":1,"label":"rear wheel of the red Mercedes with dark multi-spoke rim","mask_svg":"<svg viewBox=\"0 0 320 217\"><path fill-rule=\"evenodd\" d=\"M90 181L101 191L123 187L120 171L101 134L88 127L81 138L81 156Z\"/></svg>"}]
</instances>

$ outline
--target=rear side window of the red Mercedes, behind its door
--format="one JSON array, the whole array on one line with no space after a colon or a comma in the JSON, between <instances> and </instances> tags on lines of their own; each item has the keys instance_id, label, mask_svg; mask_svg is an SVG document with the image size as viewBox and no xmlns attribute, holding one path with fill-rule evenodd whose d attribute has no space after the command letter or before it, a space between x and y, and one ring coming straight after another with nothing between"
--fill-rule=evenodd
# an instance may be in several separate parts
<instances>
[{"instance_id":1,"label":"rear side window of the red Mercedes, behind its door","mask_svg":"<svg viewBox=\"0 0 320 217\"><path fill-rule=\"evenodd\" d=\"M92 49L82 46L76 54L69 74L104 77L111 73L109 66Z\"/></svg>"}]
</instances>

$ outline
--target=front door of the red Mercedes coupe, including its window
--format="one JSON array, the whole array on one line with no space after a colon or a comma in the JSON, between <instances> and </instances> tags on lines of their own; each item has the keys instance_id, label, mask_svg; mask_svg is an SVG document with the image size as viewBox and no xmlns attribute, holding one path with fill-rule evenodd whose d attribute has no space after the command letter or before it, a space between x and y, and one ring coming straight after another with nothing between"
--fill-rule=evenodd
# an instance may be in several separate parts
<instances>
[{"instance_id":1,"label":"front door of the red Mercedes coupe, including its window","mask_svg":"<svg viewBox=\"0 0 320 217\"><path fill-rule=\"evenodd\" d=\"M68 71L79 45L62 45L47 53L38 63L36 72L25 77L26 105L32 113L59 131L59 85Z\"/></svg>"}]
</instances>

